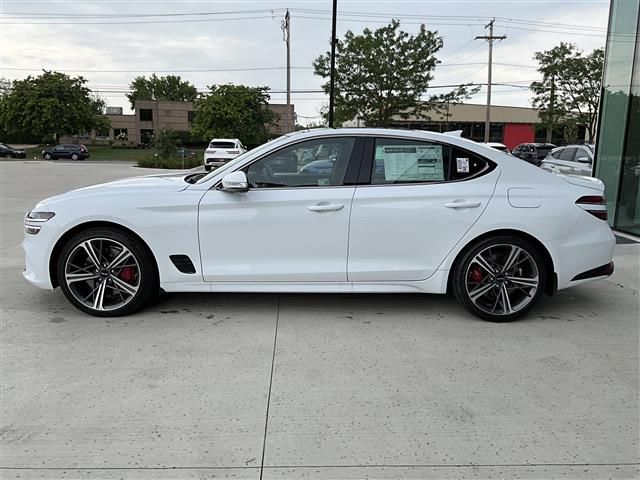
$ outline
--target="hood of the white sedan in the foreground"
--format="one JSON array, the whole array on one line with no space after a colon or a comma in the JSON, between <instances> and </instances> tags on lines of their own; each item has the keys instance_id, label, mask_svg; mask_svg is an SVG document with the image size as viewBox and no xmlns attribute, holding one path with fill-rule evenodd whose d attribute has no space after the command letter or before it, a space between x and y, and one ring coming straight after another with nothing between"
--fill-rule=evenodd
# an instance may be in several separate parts
<instances>
[{"instance_id":1,"label":"hood of the white sedan in the foreground","mask_svg":"<svg viewBox=\"0 0 640 480\"><path fill-rule=\"evenodd\" d=\"M113 182L100 183L47 198L40 202L38 206L83 200L90 197L121 196L128 193L179 192L189 186L189 184L184 181L185 176L185 173L181 172L132 177Z\"/></svg>"}]
</instances>

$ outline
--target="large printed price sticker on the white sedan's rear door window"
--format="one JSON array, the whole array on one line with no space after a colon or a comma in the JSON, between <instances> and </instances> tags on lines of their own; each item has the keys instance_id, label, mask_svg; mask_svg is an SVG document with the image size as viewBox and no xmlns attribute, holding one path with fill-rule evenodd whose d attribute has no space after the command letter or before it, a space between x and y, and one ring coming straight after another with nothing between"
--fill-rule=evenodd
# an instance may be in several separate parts
<instances>
[{"instance_id":1,"label":"large printed price sticker on the white sedan's rear door window","mask_svg":"<svg viewBox=\"0 0 640 480\"><path fill-rule=\"evenodd\" d=\"M376 148L379 159L387 182L444 181L442 145L381 146Z\"/></svg>"}]
</instances>

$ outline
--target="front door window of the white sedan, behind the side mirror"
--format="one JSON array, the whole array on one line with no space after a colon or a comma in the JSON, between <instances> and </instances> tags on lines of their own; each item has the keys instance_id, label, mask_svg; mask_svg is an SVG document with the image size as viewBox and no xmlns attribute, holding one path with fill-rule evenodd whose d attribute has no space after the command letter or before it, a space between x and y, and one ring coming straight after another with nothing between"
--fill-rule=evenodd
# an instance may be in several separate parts
<instances>
[{"instance_id":1,"label":"front door window of the white sedan, behind the side mirror","mask_svg":"<svg viewBox=\"0 0 640 480\"><path fill-rule=\"evenodd\" d=\"M250 188L342 185L355 138L322 138L296 143L245 169Z\"/></svg>"}]
</instances>

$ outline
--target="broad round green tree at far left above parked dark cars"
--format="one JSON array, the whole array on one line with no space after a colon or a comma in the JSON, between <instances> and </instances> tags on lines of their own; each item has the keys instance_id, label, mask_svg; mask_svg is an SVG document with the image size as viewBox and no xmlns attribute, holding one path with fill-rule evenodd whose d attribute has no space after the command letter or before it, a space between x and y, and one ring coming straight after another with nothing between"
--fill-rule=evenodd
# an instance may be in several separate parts
<instances>
[{"instance_id":1,"label":"broad round green tree at far left above parked dark cars","mask_svg":"<svg viewBox=\"0 0 640 480\"><path fill-rule=\"evenodd\" d=\"M108 128L104 101L93 96L83 77L43 71L14 80L3 97L2 125L14 139L37 141Z\"/></svg>"}]
</instances>

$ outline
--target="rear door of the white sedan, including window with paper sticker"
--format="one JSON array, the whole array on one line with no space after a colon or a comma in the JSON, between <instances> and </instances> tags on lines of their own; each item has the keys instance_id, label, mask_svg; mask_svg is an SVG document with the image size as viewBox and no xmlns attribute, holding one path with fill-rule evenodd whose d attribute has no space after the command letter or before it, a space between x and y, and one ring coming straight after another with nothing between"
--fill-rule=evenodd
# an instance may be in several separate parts
<instances>
[{"instance_id":1,"label":"rear door of the white sedan, including window with paper sticker","mask_svg":"<svg viewBox=\"0 0 640 480\"><path fill-rule=\"evenodd\" d=\"M353 199L348 279L383 282L433 275L482 215L499 170L458 147L377 138L361 174L368 185Z\"/></svg>"}]
</instances>

